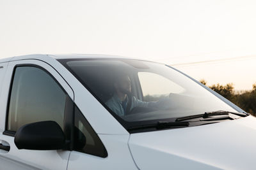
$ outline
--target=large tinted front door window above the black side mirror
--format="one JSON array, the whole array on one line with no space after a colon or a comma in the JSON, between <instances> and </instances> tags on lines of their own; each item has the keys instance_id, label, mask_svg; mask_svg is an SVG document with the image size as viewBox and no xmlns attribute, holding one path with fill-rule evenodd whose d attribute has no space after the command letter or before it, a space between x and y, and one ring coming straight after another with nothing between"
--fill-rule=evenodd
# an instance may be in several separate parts
<instances>
[{"instance_id":1,"label":"large tinted front door window above the black side mirror","mask_svg":"<svg viewBox=\"0 0 256 170\"><path fill-rule=\"evenodd\" d=\"M16 132L32 122L52 120L63 129L66 94L44 70L32 66L16 67L6 130Z\"/></svg>"}]
</instances>

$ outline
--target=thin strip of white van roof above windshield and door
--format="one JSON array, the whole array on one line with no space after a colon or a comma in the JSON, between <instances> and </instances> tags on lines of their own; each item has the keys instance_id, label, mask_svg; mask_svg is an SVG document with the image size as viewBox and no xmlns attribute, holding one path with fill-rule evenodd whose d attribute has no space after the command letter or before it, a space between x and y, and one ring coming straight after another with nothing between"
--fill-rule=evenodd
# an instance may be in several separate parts
<instances>
[{"instance_id":1,"label":"thin strip of white van roof above windshield and door","mask_svg":"<svg viewBox=\"0 0 256 170\"><path fill-rule=\"evenodd\" d=\"M24 60L24 59L135 59L131 57L124 57L120 55L102 55L102 54L78 54L78 53L71 53L71 54L31 54L31 55L20 55L15 57L8 57L5 59L0 59L0 63L8 62L11 60Z\"/></svg>"}]
</instances>

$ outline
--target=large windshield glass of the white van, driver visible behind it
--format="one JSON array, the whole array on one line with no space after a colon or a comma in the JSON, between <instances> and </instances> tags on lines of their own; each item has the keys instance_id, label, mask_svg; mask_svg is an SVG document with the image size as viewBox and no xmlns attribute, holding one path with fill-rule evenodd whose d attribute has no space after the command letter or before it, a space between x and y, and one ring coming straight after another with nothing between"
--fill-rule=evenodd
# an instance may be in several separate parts
<instances>
[{"instance_id":1,"label":"large windshield glass of the white van, driver visible behind it","mask_svg":"<svg viewBox=\"0 0 256 170\"><path fill-rule=\"evenodd\" d=\"M130 59L60 62L125 124L157 122L206 111L236 112L195 81L164 64Z\"/></svg>"}]
</instances>

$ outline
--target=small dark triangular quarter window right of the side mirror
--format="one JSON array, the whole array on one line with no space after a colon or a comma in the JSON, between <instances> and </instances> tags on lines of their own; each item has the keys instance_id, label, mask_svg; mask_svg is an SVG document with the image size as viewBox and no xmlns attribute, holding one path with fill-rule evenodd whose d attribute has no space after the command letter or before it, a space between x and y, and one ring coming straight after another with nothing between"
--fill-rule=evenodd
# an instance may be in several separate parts
<instances>
[{"instance_id":1,"label":"small dark triangular quarter window right of the side mirror","mask_svg":"<svg viewBox=\"0 0 256 170\"><path fill-rule=\"evenodd\" d=\"M88 153L99 157L107 157L108 153L99 136L93 131L89 122L77 106L75 106L75 132L74 132L74 150Z\"/></svg>"}]
</instances>

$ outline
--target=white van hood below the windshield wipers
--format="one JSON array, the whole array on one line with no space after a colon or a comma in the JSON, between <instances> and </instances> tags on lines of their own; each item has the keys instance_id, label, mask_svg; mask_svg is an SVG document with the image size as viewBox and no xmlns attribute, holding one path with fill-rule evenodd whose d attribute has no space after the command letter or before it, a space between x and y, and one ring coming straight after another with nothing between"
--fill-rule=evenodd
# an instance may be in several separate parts
<instances>
[{"instance_id":1,"label":"white van hood below the windshield wipers","mask_svg":"<svg viewBox=\"0 0 256 170\"><path fill-rule=\"evenodd\" d=\"M256 169L256 118L131 134L139 169Z\"/></svg>"}]
</instances>

